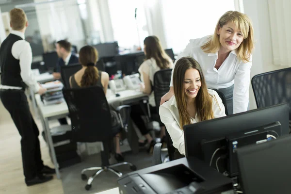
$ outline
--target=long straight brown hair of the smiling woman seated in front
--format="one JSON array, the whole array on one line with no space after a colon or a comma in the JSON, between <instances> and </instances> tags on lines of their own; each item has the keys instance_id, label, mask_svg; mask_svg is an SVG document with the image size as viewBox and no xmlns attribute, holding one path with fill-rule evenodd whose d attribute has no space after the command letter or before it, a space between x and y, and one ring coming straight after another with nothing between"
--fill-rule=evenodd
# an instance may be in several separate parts
<instances>
[{"instance_id":1,"label":"long straight brown hair of the smiling woman seated in front","mask_svg":"<svg viewBox=\"0 0 291 194\"><path fill-rule=\"evenodd\" d=\"M212 119L212 99L208 93L204 75L199 63L192 57L182 57L180 58L174 69L173 84L174 93L179 110L180 118L180 128L183 129L184 125L189 125L191 123L191 116L187 112L186 94L184 90L184 80L185 73L187 69L196 69L200 74L201 87L195 97L194 108L196 108L196 113L200 121Z\"/></svg>"}]
</instances>

